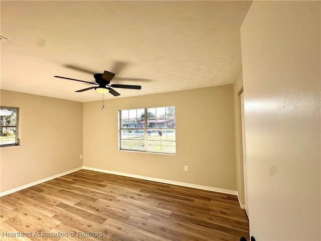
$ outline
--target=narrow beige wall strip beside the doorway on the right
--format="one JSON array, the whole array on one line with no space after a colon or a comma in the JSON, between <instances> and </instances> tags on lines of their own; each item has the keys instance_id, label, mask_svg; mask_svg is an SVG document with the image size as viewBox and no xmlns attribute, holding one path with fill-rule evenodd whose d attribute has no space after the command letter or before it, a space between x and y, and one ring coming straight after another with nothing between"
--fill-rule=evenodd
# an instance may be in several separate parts
<instances>
[{"instance_id":1,"label":"narrow beige wall strip beside the doorway on the right","mask_svg":"<svg viewBox=\"0 0 321 241\"><path fill-rule=\"evenodd\" d=\"M244 182L243 182L243 152L242 152L242 129L241 129L241 104L240 93L243 92L242 66L233 84L234 95L234 136L235 136L235 161L236 161L236 190L239 202L244 205Z\"/></svg>"}]
</instances>

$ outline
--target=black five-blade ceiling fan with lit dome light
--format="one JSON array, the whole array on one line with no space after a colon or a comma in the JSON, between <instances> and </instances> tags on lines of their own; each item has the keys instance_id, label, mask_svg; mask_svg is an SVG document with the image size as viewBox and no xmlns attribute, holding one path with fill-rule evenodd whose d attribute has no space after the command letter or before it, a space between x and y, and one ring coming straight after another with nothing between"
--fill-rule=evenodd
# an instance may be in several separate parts
<instances>
[{"instance_id":1,"label":"black five-blade ceiling fan with lit dome light","mask_svg":"<svg viewBox=\"0 0 321 241\"><path fill-rule=\"evenodd\" d=\"M120 95L120 93L118 93L116 90L112 89L111 87L113 87L113 88L124 88L124 89L141 89L140 85L128 85L128 84L111 84L111 85L109 85L111 79L114 76L115 76L114 73L111 73L111 72L106 71L106 70L104 71L103 74L100 74L100 73L94 74L94 79L95 79L96 83L89 82L89 81L84 81L84 80L79 80L79 79L72 79L72 78L57 76L57 75L55 75L54 77L62 78L62 79L69 79L69 80L75 80L75 81L80 81L80 82L96 85L96 86L92 86L92 87L89 87L89 88L76 90L75 92L83 92L83 91L86 91L86 90L89 90L89 89L95 89L100 94L105 94L105 93L109 92L113 96L118 96L118 95Z\"/></svg>"}]
</instances>

